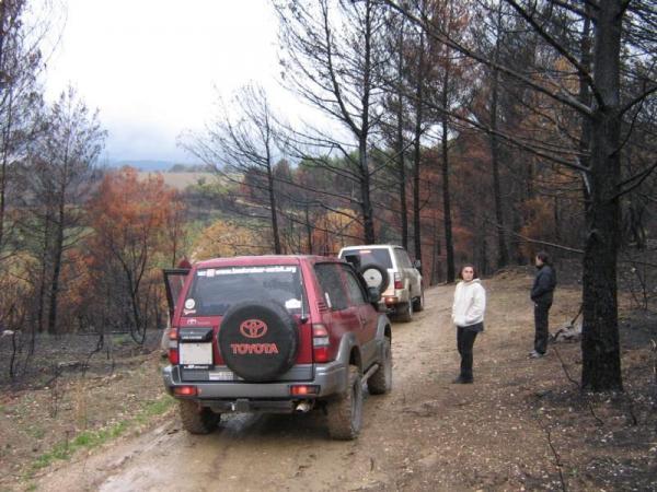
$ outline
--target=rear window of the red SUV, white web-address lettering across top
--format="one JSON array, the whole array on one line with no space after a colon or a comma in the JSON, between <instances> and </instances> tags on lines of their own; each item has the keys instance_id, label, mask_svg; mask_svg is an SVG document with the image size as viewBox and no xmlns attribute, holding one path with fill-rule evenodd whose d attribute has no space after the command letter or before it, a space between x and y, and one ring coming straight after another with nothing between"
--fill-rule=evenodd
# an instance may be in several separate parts
<instances>
[{"instance_id":1,"label":"rear window of the red SUV, white web-address lettering across top","mask_svg":"<svg viewBox=\"0 0 657 492\"><path fill-rule=\"evenodd\" d=\"M183 316L222 316L242 301L274 301L290 313L308 312L299 267L228 267L198 269L183 306Z\"/></svg>"}]
</instances>

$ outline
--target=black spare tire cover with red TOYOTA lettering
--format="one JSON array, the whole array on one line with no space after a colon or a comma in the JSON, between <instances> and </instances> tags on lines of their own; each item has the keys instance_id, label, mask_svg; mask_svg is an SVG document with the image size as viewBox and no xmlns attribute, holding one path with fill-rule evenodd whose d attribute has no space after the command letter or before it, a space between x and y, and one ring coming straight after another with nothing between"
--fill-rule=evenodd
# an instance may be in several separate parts
<instances>
[{"instance_id":1,"label":"black spare tire cover with red TOYOTA lettering","mask_svg":"<svg viewBox=\"0 0 657 492\"><path fill-rule=\"evenodd\" d=\"M297 323L274 302L247 301L232 305L219 327L219 351L238 376L253 382L273 380L297 359Z\"/></svg>"}]
</instances>

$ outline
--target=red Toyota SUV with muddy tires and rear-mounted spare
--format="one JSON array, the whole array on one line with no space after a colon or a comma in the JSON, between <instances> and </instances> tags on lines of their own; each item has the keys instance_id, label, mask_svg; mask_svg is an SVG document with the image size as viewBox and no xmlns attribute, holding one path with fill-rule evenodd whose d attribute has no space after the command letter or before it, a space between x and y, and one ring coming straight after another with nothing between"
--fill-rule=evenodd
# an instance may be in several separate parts
<instances>
[{"instance_id":1,"label":"red Toyota SUV with muddy tires and rear-mounted spare","mask_svg":"<svg viewBox=\"0 0 657 492\"><path fill-rule=\"evenodd\" d=\"M251 256L165 270L171 331L163 370L184 427L227 412L322 408L332 437L358 435L362 383L390 391L391 328L381 293L339 259Z\"/></svg>"}]
</instances>

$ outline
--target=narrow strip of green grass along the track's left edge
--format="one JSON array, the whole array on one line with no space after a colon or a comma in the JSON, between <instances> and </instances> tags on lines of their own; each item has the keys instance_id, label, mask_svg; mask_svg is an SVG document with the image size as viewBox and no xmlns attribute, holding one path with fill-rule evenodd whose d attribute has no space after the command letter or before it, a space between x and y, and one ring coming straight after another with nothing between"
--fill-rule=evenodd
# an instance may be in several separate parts
<instances>
[{"instance_id":1,"label":"narrow strip of green grass along the track's left edge","mask_svg":"<svg viewBox=\"0 0 657 492\"><path fill-rule=\"evenodd\" d=\"M132 419L123 420L97 431L83 431L71 440L57 443L49 452L44 453L32 462L25 479L32 479L36 471L50 466L55 461L70 459L77 450L93 449L120 436L136 424L147 423L153 417L165 413L173 406L173 402L172 397L163 395L157 400L146 401Z\"/></svg>"}]
</instances>

